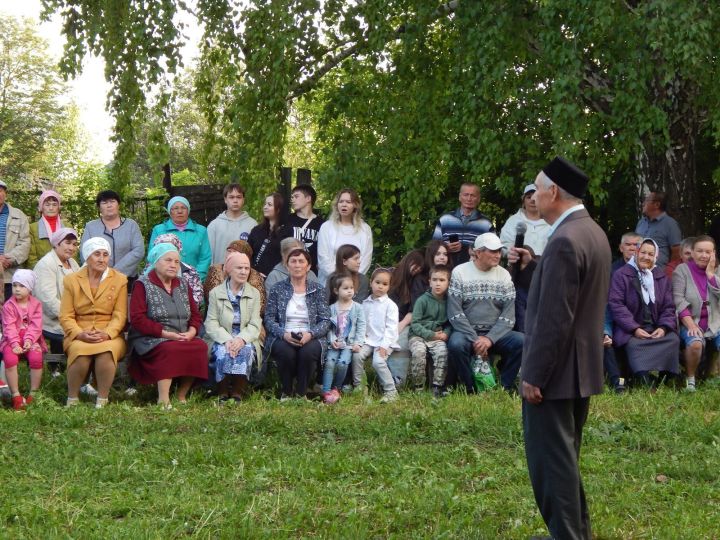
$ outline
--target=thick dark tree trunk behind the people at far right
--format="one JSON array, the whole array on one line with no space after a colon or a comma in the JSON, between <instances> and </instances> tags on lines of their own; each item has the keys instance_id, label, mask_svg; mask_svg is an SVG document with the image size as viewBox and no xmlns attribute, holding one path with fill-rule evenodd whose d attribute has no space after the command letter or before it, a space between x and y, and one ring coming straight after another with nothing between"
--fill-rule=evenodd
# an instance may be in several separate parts
<instances>
[{"instance_id":1,"label":"thick dark tree trunk behind the people at far right","mask_svg":"<svg viewBox=\"0 0 720 540\"><path fill-rule=\"evenodd\" d=\"M650 191L664 192L666 211L677 220L683 237L704 232L695 161L698 136L697 117L678 115L670 126L667 148L653 148L645 142L637 155L638 204L642 205Z\"/></svg>"}]
</instances>

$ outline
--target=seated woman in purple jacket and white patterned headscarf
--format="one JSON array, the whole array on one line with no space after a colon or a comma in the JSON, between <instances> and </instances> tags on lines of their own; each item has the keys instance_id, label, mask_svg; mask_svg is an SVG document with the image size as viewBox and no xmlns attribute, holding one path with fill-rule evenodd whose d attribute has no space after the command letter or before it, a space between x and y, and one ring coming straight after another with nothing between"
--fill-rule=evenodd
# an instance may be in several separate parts
<instances>
[{"instance_id":1,"label":"seated woman in purple jacket and white patterned headscarf","mask_svg":"<svg viewBox=\"0 0 720 540\"><path fill-rule=\"evenodd\" d=\"M614 345L625 349L633 376L646 384L651 371L661 377L680 371L672 284L655 267L657 253L655 241L645 238L635 256L613 274L608 301Z\"/></svg>"}]
</instances>

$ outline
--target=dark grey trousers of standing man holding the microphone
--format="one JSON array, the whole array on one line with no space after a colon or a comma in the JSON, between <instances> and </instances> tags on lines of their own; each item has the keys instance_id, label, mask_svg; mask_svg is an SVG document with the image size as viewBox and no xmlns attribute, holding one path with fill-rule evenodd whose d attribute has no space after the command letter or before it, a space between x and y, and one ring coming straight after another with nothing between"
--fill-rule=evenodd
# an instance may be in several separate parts
<instances>
[{"instance_id":1,"label":"dark grey trousers of standing man holding the microphone","mask_svg":"<svg viewBox=\"0 0 720 540\"><path fill-rule=\"evenodd\" d=\"M523 401L525 456L535 502L553 538L590 540L580 479L582 430L590 398Z\"/></svg>"}]
</instances>

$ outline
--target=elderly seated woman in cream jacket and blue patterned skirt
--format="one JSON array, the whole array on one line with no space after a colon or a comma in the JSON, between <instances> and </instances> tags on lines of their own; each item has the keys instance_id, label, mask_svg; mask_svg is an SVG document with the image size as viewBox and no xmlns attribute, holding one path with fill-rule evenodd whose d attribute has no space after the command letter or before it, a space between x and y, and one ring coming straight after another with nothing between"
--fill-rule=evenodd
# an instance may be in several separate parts
<instances>
[{"instance_id":1,"label":"elderly seated woman in cream jacket and blue patterned skirt","mask_svg":"<svg viewBox=\"0 0 720 540\"><path fill-rule=\"evenodd\" d=\"M247 280L250 258L229 253L223 270L227 278L210 291L205 332L213 341L215 379L220 401L240 401L249 379L257 378L262 365L260 292Z\"/></svg>"}]
</instances>

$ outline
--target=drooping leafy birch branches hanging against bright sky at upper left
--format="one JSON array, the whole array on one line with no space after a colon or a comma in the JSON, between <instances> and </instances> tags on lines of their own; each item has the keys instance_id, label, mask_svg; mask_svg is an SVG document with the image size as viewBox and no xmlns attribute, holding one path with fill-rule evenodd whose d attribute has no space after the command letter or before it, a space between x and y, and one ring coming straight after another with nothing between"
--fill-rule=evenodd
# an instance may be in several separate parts
<instances>
[{"instance_id":1,"label":"drooping leafy birch branches hanging against bright sky at upper left","mask_svg":"<svg viewBox=\"0 0 720 540\"><path fill-rule=\"evenodd\" d=\"M58 12L67 39L60 68L66 76L82 71L85 55L105 60L111 84L107 104L115 116L117 143L114 178L130 180L130 164L138 149L137 128L154 108L162 117L169 102L169 78L180 65L182 24L176 20L181 0L42 0L43 16ZM155 96L149 103L147 96ZM166 141L154 133L152 152L163 151Z\"/></svg>"}]
</instances>

